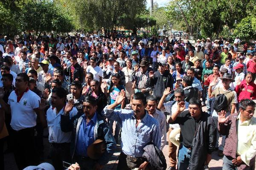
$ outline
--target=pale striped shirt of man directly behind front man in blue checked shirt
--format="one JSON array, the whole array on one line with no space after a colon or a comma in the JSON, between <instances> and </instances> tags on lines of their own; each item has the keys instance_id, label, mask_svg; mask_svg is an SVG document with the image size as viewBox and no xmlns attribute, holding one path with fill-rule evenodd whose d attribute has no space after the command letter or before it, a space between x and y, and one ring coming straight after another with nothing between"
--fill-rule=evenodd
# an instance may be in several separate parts
<instances>
[{"instance_id":1,"label":"pale striped shirt of man directly behind front man in blue checked shirt","mask_svg":"<svg viewBox=\"0 0 256 170\"><path fill-rule=\"evenodd\" d=\"M157 119L158 123L160 124L160 130L161 130L161 150L163 150L163 147L166 144L166 116L156 109L155 113L150 116Z\"/></svg>"}]
</instances>

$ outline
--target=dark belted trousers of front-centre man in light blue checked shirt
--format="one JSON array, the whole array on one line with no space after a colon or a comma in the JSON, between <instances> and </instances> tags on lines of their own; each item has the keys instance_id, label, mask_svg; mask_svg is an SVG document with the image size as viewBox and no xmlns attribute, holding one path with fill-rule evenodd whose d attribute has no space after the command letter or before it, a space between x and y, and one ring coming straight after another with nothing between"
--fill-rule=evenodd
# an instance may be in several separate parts
<instances>
[{"instance_id":1,"label":"dark belted trousers of front-centre man in light blue checked shirt","mask_svg":"<svg viewBox=\"0 0 256 170\"><path fill-rule=\"evenodd\" d=\"M132 162L127 159L127 156L123 152L121 152L116 170L132 170L136 167L140 167L143 162L143 159L137 159L137 161ZM146 167L145 170L148 170L148 167Z\"/></svg>"}]
</instances>

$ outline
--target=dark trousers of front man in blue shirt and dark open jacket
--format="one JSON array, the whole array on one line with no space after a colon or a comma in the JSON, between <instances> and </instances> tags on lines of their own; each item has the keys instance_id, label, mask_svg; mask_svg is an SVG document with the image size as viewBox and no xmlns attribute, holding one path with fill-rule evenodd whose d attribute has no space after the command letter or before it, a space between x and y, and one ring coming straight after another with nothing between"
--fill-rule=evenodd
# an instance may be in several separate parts
<instances>
[{"instance_id":1,"label":"dark trousers of front man in blue shirt and dark open jacket","mask_svg":"<svg viewBox=\"0 0 256 170\"><path fill-rule=\"evenodd\" d=\"M73 164L76 162L79 164L80 170L94 170L94 165L97 163L97 160L75 155L73 157Z\"/></svg>"}]
</instances>

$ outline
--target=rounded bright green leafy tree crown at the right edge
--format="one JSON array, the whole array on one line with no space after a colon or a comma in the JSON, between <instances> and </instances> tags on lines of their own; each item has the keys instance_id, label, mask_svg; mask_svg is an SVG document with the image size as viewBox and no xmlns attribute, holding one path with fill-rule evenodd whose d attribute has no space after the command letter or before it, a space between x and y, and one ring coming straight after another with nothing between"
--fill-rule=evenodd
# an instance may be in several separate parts
<instances>
[{"instance_id":1,"label":"rounded bright green leafy tree crown at the right edge","mask_svg":"<svg viewBox=\"0 0 256 170\"><path fill-rule=\"evenodd\" d=\"M234 36L239 37L241 40L255 40L256 39L256 29L255 22L256 17L248 16L241 20L234 29Z\"/></svg>"}]
</instances>

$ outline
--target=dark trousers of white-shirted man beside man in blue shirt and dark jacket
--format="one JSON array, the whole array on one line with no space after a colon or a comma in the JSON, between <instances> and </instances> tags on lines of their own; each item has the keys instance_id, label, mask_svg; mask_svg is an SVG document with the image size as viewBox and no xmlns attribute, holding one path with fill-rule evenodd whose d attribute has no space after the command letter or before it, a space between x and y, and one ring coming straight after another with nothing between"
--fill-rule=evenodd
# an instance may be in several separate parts
<instances>
[{"instance_id":1,"label":"dark trousers of white-shirted man beside man in blue shirt and dark jacket","mask_svg":"<svg viewBox=\"0 0 256 170\"><path fill-rule=\"evenodd\" d=\"M50 143L49 149L49 157L55 170L64 170L62 161L71 163L70 143Z\"/></svg>"}]
</instances>

